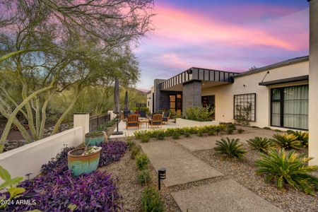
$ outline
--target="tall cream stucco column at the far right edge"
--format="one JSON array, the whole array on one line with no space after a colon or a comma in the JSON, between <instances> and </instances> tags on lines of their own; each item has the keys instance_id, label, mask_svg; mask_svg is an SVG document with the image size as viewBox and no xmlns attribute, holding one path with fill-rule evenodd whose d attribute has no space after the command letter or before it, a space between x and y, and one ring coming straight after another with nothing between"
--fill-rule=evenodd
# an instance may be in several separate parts
<instances>
[{"instance_id":1,"label":"tall cream stucco column at the far right edge","mask_svg":"<svg viewBox=\"0 0 318 212\"><path fill-rule=\"evenodd\" d=\"M309 153L318 165L318 0L310 1Z\"/></svg>"}]
</instances>

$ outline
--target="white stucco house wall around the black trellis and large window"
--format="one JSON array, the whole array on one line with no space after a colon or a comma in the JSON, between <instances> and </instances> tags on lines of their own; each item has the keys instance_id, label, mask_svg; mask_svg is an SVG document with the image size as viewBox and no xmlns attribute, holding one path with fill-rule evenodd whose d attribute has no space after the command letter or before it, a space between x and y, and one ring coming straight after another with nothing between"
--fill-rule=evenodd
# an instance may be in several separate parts
<instances>
[{"instance_id":1,"label":"white stucco house wall around the black trellis and large window","mask_svg":"<svg viewBox=\"0 0 318 212\"><path fill-rule=\"evenodd\" d=\"M234 122L233 120L233 95L244 93L257 93L256 104L256 122L250 122L251 125L264 127L270 125L270 88L259 86L259 82L264 78L267 71L250 74L247 76L235 77L235 82L225 86L216 86L202 90L202 96L216 96L216 121ZM273 81L295 76L304 76L309 74L309 61L303 61L298 64L282 66L269 70L264 81ZM298 83L280 84L274 87L294 86L307 84L307 81ZM274 128L274 127L273 127Z\"/></svg>"}]
</instances>

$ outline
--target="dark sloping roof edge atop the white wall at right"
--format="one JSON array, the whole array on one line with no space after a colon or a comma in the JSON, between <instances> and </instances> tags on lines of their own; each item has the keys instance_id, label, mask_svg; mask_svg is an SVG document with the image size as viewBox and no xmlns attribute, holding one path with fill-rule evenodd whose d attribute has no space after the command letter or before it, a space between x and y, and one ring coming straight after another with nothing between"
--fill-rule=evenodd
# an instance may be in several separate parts
<instances>
[{"instance_id":1,"label":"dark sloping roof edge atop the white wall at right","mask_svg":"<svg viewBox=\"0 0 318 212\"><path fill-rule=\"evenodd\" d=\"M245 71L245 72L242 72L239 75L236 75L234 77L247 76L249 74L259 73L261 71L268 71L268 70L271 70L271 69L276 69L278 67L288 66L288 65L291 65L291 64L297 64L297 63L300 63L302 61L308 61L308 60L309 60L309 56L295 57L293 59L288 59L288 60L285 60L285 61L281 61L281 62L278 62L276 64L271 64L269 66L263 66L263 67L258 68L258 69L252 69L252 70L249 70L249 71Z\"/></svg>"}]
</instances>

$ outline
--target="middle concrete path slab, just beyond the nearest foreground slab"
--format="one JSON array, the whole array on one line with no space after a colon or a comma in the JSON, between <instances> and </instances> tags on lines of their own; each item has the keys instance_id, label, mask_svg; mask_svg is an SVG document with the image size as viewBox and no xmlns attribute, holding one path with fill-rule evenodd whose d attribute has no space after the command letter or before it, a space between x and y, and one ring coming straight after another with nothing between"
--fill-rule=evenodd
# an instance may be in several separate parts
<instances>
[{"instance_id":1,"label":"middle concrete path slab, just beyond the nearest foreground slab","mask_svg":"<svg viewBox=\"0 0 318 212\"><path fill-rule=\"evenodd\" d=\"M171 141L141 143L141 148L156 170L166 168L167 178L163 182L167 187L223 176L222 173Z\"/></svg>"}]
</instances>

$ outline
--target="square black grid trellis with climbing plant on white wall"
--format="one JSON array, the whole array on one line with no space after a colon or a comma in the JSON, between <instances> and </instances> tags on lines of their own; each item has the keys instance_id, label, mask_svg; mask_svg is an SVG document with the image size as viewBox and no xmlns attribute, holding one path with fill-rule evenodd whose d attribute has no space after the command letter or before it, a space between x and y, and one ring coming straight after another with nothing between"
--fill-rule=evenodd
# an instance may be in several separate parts
<instances>
[{"instance_id":1,"label":"square black grid trellis with climbing plant on white wall","mask_svg":"<svg viewBox=\"0 0 318 212\"><path fill-rule=\"evenodd\" d=\"M256 93L234 95L234 119L256 121Z\"/></svg>"}]
</instances>

